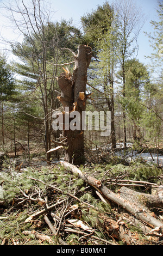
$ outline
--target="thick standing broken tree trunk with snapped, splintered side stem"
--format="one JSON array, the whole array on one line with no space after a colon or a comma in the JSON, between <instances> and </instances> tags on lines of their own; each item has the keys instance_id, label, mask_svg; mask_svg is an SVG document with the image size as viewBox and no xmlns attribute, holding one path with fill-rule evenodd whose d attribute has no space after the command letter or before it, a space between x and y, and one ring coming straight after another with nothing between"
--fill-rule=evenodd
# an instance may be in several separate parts
<instances>
[{"instance_id":1,"label":"thick standing broken tree trunk with snapped, splintered side stem","mask_svg":"<svg viewBox=\"0 0 163 256\"><path fill-rule=\"evenodd\" d=\"M74 164L84 163L84 131L82 128L82 112L86 107L86 82L87 82L87 68L90 65L92 51L91 47L85 45L78 46L78 54L74 55L74 69L73 75L68 70L61 73L58 77L58 84L61 90L61 95L58 97L65 108L64 112L64 137L67 137L67 147L65 147L65 160ZM68 121L65 122L65 115ZM73 124L72 115L74 111L79 113L78 119L75 118ZM71 118L69 114L71 113ZM73 129L70 129L72 123ZM78 124L77 124L78 123Z\"/></svg>"}]
</instances>

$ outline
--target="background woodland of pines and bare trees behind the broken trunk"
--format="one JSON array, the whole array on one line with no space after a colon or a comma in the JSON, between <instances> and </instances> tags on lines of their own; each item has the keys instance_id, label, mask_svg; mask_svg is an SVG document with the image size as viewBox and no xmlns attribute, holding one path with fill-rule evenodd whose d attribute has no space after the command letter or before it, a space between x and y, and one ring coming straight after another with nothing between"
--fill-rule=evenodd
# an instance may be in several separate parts
<instances>
[{"instance_id":1,"label":"background woodland of pines and bare trees behind the broken trunk","mask_svg":"<svg viewBox=\"0 0 163 256\"><path fill-rule=\"evenodd\" d=\"M124 148L127 142L135 147L149 142L159 148L162 4L158 4L160 22L152 21L154 33L147 35L154 50L149 56L151 67L136 59L143 20L140 9L130 1L99 6L81 17L81 30L71 21L49 21L49 13L40 4L36 1L27 8L22 2L22 7L5 7L24 40L11 44L17 62L8 64L7 57L1 56L1 150L14 151L15 156L22 150L30 157L34 145L45 148L45 153L54 147L52 141L60 132L52 129L53 111L61 107L57 77L62 68L73 72L73 63L66 63L73 62L71 51L77 52L81 44L91 46L93 51L86 87L92 95L86 110L111 112L110 137L101 138L98 132L87 131L85 138L97 145L111 143L112 149L116 142L123 142Z\"/></svg>"}]
</instances>

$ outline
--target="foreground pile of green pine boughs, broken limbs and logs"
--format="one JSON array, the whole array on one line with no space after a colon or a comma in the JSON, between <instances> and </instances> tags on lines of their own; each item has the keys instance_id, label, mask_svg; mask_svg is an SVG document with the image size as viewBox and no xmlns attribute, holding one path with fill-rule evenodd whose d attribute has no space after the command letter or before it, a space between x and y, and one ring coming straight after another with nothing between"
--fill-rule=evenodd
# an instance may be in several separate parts
<instances>
[{"instance_id":1,"label":"foreground pile of green pine boughs, broken limbs and logs","mask_svg":"<svg viewBox=\"0 0 163 256\"><path fill-rule=\"evenodd\" d=\"M30 185L15 182L15 197L8 204L1 201L1 245L163 244L161 186L133 181L155 188L154 195L142 193L128 188L130 180L112 177L113 192L104 179L73 164L61 161L43 168L34 168L33 176L23 173Z\"/></svg>"}]
</instances>

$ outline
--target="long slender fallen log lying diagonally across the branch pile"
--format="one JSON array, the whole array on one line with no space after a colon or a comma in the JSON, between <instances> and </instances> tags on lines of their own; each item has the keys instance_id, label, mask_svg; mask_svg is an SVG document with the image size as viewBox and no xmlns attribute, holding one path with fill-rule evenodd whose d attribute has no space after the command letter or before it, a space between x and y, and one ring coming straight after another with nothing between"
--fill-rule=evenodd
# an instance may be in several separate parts
<instances>
[{"instance_id":1,"label":"long slender fallen log lying diagonally across the branch pile","mask_svg":"<svg viewBox=\"0 0 163 256\"><path fill-rule=\"evenodd\" d=\"M79 178L83 179L85 182L87 182L87 184L94 187L99 193L102 193L104 197L111 200L111 202L120 205L123 209L130 212L130 214L134 215L137 219L149 225L149 227L163 227L162 221L157 220L149 214L146 214L143 209L141 209L141 207L136 207L133 203L122 198L119 194L112 192L106 186L104 186L100 180L97 180L96 178L89 176L86 173L82 173L79 168L71 163L65 161L60 161L60 163L65 168L70 169L72 173L78 174Z\"/></svg>"}]
</instances>

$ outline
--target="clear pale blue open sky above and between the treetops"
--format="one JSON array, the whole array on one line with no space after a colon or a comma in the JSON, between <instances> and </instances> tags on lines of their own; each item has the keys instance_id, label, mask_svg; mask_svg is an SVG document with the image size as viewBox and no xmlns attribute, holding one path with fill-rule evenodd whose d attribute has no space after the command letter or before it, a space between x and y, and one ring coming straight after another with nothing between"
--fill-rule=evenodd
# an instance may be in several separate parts
<instances>
[{"instance_id":1,"label":"clear pale blue open sky above and between the treetops","mask_svg":"<svg viewBox=\"0 0 163 256\"><path fill-rule=\"evenodd\" d=\"M25 2L28 0L25 0ZM1 2L1 0L0 0ZM3 1L2 1L3 2ZM73 24L77 27L80 27L80 17L86 13L90 13L92 10L96 10L98 5L102 5L105 0L51 0L52 3L52 11L55 11L53 15L53 21L66 19L73 19ZM108 1L110 4L112 0ZM156 0L135 0L135 4L138 7L142 8L143 17L145 17L145 25L143 26L139 38L139 58L140 62L145 64L148 63L148 59L145 56L150 55L153 52L152 47L149 46L148 36L144 34L145 32L152 32L153 28L150 24L151 20L158 20L156 15ZM1 15L3 15L3 11L0 9L0 33L5 37L11 39L14 38L14 30L12 28L6 29L4 25L4 18L2 19ZM1 41L0 41L1 43ZM0 49L4 48L4 45L1 46Z\"/></svg>"}]
</instances>

